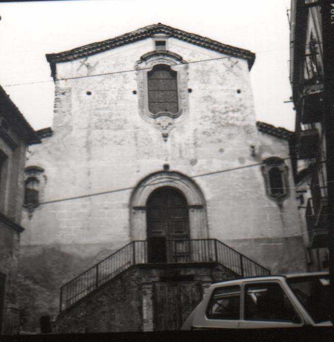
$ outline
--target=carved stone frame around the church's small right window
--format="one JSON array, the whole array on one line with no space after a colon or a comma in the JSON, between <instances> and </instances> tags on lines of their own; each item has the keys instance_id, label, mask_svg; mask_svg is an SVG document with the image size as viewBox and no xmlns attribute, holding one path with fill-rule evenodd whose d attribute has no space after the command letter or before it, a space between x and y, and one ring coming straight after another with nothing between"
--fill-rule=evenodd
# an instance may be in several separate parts
<instances>
[{"instance_id":1,"label":"carved stone frame around the church's small right window","mask_svg":"<svg viewBox=\"0 0 334 342\"><path fill-rule=\"evenodd\" d=\"M270 200L275 201L279 207L282 207L283 201L285 201L290 195L289 188L289 167L285 164L284 159L279 157L270 157L263 161L264 165L261 166L262 176L265 183L266 195ZM278 168L282 172L282 183L284 193L272 193L270 186L270 175L269 172L272 168Z\"/></svg>"}]
</instances>

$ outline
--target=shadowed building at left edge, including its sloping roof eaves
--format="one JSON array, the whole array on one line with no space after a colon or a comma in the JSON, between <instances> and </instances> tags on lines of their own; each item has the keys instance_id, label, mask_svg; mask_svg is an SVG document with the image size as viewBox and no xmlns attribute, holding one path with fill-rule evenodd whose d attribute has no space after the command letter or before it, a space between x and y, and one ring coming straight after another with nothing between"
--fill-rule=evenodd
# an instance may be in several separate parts
<instances>
[{"instance_id":1,"label":"shadowed building at left edge, including its sloping roof eaves","mask_svg":"<svg viewBox=\"0 0 334 342\"><path fill-rule=\"evenodd\" d=\"M39 137L0 87L0 334L19 331L16 279L25 152L37 143Z\"/></svg>"}]
</instances>

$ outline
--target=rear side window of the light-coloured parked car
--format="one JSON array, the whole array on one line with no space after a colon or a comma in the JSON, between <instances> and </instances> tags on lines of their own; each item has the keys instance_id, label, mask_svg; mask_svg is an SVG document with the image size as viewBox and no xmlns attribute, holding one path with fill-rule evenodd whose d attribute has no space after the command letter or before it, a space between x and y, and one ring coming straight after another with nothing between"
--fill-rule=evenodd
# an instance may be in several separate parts
<instances>
[{"instance_id":1,"label":"rear side window of the light-coloured parked car","mask_svg":"<svg viewBox=\"0 0 334 342\"><path fill-rule=\"evenodd\" d=\"M222 287L212 293L206 316L213 320L240 319L240 287Z\"/></svg>"}]
</instances>

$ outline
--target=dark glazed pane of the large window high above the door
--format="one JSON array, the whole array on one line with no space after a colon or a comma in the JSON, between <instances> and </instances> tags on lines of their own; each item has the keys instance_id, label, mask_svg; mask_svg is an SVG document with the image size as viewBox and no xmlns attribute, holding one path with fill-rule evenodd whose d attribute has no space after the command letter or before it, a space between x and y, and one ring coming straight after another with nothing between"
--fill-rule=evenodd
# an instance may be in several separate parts
<instances>
[{"instance_id":1,"label":"dark glazed pane of the large window high above the door","mask_svg":"<svg viewBox=\"0 0 334 342\"><path fill-rule=\"evenodd\" d=\"M179 111L177 72L169 65L158 64L147 73L149 110L177 113Z\"/></svg>"}]
</instances>

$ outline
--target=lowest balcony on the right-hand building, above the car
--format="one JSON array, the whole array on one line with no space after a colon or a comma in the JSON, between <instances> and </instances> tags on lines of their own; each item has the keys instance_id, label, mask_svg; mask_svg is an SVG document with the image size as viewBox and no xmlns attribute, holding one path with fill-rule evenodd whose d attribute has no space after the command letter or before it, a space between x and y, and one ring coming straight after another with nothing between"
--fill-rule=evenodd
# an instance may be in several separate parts
<instances>
[{"instance_id":1,"label":"lowest balcony on the right-hand building, above the car","mask_svg":"<svg viewBox=\"0 0 334 342\"><path fill-rule=\"evenodd\" d=\"M309 198L305 217L309 232L310 248L328 247L328 226L327 226L328 204L327 199L322 198L320 201L319 212L314 215Z\"/></svg>"}]
</instances>

